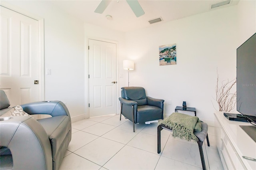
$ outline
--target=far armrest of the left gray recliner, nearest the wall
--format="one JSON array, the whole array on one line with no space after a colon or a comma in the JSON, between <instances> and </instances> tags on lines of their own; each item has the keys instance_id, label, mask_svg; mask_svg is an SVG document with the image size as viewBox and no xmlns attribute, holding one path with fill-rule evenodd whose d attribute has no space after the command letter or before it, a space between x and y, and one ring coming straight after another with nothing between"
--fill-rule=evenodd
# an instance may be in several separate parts
<instances>
[{"instance_id":1,"label":"far armrest of the left gray recliner, nearest the wall","mask_svg":"<svg viewBox=\"0 0 256 170\"><path fill-rule=\"evenodd\" d=\"M30 115L44 114L51 115L52 117L67 115L70 117L68 108L61 101L39 101L20 106L23 108L24 112Z\"/></svg>"}]
</instances>

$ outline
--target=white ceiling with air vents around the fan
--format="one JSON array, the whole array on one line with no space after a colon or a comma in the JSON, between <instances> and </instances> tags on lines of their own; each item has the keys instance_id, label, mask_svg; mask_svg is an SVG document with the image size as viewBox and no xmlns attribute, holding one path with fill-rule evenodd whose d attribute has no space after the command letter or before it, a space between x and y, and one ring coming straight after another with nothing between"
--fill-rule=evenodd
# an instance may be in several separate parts
<instances>
[{"instance_id":1,"label":"white ceiling with air vents around the fan","mask_svg":"<svg viewBox=\"0 0 256 170\"><path fill-rule=\"evenodd\" d=\"M149 24L149 20L162 18L162 22L177 20L187 16L209 12L219 8L238 4L239 0L231 0L230 4L210 9L211 5L222 0L138 0L145 14L136 17L126 0L112 0L103 14L94 10L101 0L51 0L51 4L58 6L70 15L80 20L101 26L128 32L161 22ZM112 20L106 19L106 15L112 16Z\"/></svg>"}]
</instances>

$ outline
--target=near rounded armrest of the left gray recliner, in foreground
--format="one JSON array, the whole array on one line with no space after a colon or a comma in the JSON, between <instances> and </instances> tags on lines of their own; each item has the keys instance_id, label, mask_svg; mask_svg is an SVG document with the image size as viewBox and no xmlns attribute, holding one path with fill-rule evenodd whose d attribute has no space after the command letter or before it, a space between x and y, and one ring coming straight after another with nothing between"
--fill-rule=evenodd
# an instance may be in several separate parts
<instances>
[{"instance_id":1,"label":"near rounded armrest of the left gray recliner, in foreground","mask_svg":"<svg viewBox=\"0 0 256 170\"><path fill-rule=\"evenodd\" d=\"M50 140L42 125L33 117L15 116L0 123L0 143L10 149L12 169L52 170ZM9 155L1 155L1 161ZM4 166L4 164L3 164ZM1 168L2 167L1 164Z\"/></svg>"}]
</instances>

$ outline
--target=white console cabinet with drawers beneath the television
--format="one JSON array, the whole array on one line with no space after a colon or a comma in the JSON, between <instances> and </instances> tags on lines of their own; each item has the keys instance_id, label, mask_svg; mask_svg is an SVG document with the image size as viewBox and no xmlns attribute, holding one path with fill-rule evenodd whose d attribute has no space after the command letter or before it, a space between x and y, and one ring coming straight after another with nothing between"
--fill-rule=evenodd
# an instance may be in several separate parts
<instances>
[{"instance_id":1,"label":"white console cabinet with drawers beneath the television","mask_svg":"<svg viewBox=\"0 0 256 170\"><path fill-rule=\"evenodd\" d=\"M246 122L230 121L223 112L216 112L216 144L224 169L256 170L256 142L239 125L251 125Z\"/></svg>"}]
</instances>

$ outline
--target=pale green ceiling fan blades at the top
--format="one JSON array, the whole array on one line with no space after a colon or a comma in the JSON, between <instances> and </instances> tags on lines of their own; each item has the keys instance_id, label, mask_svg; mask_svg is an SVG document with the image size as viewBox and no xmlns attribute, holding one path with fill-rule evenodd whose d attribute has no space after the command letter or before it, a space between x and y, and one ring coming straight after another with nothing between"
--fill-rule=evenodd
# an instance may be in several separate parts
<instances>
[{"instance_id":1,"label":"pale green ceiling fan blades at the top","mask_svg":"<svg viewBox=\"0 0 256 170\"><path fill-rule=\"evenodd\" d=\"M94 12L102 14L112 0L102 0ZM118 1L117 1L118 2ZM141 8L138 0L126 0L136 17L140 17L145 14Z\"/></svg>"}]
</instances>

